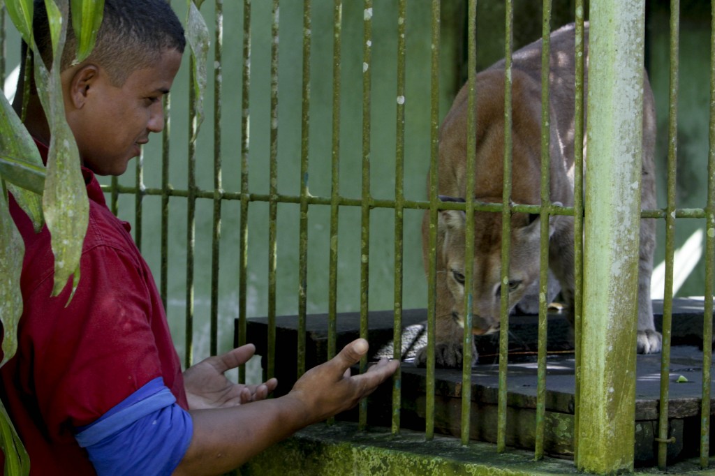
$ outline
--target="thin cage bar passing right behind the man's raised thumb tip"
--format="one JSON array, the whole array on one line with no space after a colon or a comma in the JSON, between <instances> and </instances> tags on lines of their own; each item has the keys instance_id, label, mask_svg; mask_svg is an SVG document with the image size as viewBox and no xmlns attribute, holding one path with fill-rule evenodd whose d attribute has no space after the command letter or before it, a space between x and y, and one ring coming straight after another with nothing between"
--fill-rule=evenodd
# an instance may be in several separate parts
<instances>
[{"instance_id":1,"label":"thin cage bar passing right behind the man's raised thumb tip","mask_svg":"<svg viewBox=\"0 0 715 476\"><path fill-rule=\"evenodd\" d=\"M363 191L361 194L360 233L360 337L368 338L368 292L370 289L370 88L373 71L373 0L365 0L363 13ZM360 373L368 370L368 356L360 359ZM368 401L360 401L360 430L368 425Z\"/></svg>"}]
</instances>

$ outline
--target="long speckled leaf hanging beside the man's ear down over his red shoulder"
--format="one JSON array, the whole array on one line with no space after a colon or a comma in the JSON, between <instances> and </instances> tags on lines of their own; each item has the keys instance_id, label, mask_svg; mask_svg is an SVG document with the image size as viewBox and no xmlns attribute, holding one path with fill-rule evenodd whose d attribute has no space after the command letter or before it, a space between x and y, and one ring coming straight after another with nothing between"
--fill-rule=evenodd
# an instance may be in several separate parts
<instances>
[{"instance_id":1,"label":"long speckled leaf hanging beside the man's ear down over his red shoulder","mask_svg":"<svg viewBox=\"0 0 715 476\"><path fill-rule=\"evenodd\" d=\"M51 137L42 209L52 236L52 295L56 296L64 289L72 274L72 294L74 289L77 289L79 259L82 257L82 243L89 222L89 199L80 170L77 143L74 142L74 136L64 116L64 99L59 76L61 54L56 54L64 47L66 24L61 19L67 17L69 3L68 0L60 0L58 7L53 0L45 0L45 4L51 36L57 41L55 43L53 40L51 71L47 71L42 61L35 61L35 79ZM35 54L38 52L35 51Z\"/></svg>"}]
</instances>

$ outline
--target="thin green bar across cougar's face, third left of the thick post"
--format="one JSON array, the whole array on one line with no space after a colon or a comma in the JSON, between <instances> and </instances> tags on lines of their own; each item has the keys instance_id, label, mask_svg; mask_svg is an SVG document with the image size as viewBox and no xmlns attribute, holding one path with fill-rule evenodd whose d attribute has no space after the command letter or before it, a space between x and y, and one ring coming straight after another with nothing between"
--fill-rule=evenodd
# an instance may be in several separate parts
<instances>
[{"instance_id":1,"label":"thin green bar across cougar's face, third left of the thick post","mask_svg":"<svg viewBox=\"0 0 715 476\"><path fill-rule=\"evenodd\" d=\"M506 1L506 39L504 56L504 188L501 210L501 289L509 287L511 253L511 50L513 42L514 5ZM506 373L509 359L509 293L501 293L499 319L499 392L497 416L497 452L506 450Z\"/></svg>"}]
</instances>

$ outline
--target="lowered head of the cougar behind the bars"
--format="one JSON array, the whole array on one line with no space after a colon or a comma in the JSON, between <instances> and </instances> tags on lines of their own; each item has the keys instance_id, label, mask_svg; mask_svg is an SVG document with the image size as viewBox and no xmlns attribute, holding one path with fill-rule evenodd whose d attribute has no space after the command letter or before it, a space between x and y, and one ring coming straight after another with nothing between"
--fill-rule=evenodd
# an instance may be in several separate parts
<instances>
[{"instance_id":1,"label":"lowered head of the cougar behind the bars","mask_svg":"<svg viewBox=\"0 0 715 476\"><path fill-rule=\"evenodd\" d=\"M541 220L536 214L514 213L511 216L511 251L508 277L501 279L501 212L474 213L474 259L472 267L472 332L489 334L499 330L501 295L508 293L511 312L526 290L539 277L539 236ZM553 227L551 227L553 232ZM465 324L465 213L442 210L438 222L438 244L442 257L438 275L444 282L439 299L450 302L451 316L461 327Z\"/></svg>"}]
</instances>

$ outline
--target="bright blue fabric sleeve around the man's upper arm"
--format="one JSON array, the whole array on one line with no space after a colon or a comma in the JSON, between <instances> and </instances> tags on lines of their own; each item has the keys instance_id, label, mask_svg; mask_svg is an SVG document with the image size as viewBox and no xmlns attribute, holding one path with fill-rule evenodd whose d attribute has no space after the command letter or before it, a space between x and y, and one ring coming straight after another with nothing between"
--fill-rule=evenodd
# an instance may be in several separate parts
<instances>
[{"instance_id":1,"label":"bright blue fabric sleeve around the man's upper arm","mask_svg":"<svg viewBox=\"0 0 715 476\"><path fill-rule=\"evenodd\" d=\"M171 475L189 448L193 422L157 377L76 430L100 476Z\"/></svg>"}]
</instances>

